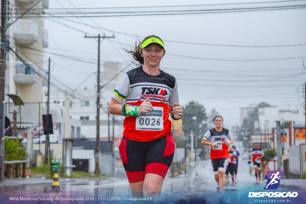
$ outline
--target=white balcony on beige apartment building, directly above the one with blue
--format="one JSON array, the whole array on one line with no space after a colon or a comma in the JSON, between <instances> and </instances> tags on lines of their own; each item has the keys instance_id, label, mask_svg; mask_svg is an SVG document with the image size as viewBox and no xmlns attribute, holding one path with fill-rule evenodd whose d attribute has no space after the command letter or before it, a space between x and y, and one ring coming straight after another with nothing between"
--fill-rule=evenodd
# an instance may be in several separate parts
<instances>
[{"instance_id":1,"label":"white balcony on beige apartment building, directly above the one with blue","mask_svg":"<svg viewBox=\"0 0 306 204\"><path fill-rule=\"evenodd\" d=\"M14 23L14 40L16 43L29 44L38 41L38 25L33 20L18 19Z\"/></svg>"}]
</instances>

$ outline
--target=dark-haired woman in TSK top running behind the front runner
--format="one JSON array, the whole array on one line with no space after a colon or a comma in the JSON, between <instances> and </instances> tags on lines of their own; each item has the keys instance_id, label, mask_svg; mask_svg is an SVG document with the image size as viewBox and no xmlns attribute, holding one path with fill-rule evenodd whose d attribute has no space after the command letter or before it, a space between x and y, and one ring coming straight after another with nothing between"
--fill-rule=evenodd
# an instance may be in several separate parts
<instances>
[{"instance_id":1,"label":"dark-haired woman in TSK top running behind the front runner","mask_svg":"<svg viewBox=\"0 0 306 204\"><path fill-rule=\"evenodd\" d=\"M228 147L234 142L230 130L222 128L223 118L216 116L214 118L215 128L208 130L203 137L203 145L211 145L211 163L214 168L215 180L217 181L217 192L222 196L225 184L224 172L229 163Z\"/></svg>"}]
</instances>

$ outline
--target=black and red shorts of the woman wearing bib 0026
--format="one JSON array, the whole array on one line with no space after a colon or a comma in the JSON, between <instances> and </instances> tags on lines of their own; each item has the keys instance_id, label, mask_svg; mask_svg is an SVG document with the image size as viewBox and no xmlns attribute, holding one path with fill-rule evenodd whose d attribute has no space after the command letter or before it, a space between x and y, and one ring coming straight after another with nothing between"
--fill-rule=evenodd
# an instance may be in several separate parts
<instances>
[{"instance_id":1,"label":"black and red shorts of the woman wearing bib 0026","mask_svg":"<svg viewBox=\"0 0 306 204\"><path fill-rule=\"evenodd\" d=\"M129 183L143 181L147 173L165 178L173 160L174 150L171 132L149 142L133 141L123 136L119 151Z\"/></svg>"}]
</instances>

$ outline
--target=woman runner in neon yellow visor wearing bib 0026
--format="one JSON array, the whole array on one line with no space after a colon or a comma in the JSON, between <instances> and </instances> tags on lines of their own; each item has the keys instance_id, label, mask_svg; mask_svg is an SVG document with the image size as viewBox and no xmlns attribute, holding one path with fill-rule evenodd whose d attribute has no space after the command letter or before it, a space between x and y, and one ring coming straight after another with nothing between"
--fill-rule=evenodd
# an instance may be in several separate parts
<instances>
[{"instance_id":1,"label":"woman runner in neon yellow visor wearing bib 0026","mask_svg":"<svg viewBox=\"0 0 306 204\"><path fill-rule=\"evenodd\" d=\"M143 66L123 75L109 112L126 116L119 151L132 196L159 196L175 150L168 117L183 115L177 81L159 69L165 49L158 36L147 36L128 52Z\"/></svg>"}]
</instances>

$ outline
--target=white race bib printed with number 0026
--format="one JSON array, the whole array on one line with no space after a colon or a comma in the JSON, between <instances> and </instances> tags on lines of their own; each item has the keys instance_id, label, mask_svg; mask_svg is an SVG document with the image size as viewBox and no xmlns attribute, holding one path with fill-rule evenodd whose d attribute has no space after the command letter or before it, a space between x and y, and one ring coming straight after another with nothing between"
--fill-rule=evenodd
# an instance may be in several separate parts
<instances>
[{"instance_id":1,"label":"white race bib printed with number 0026","mask_svg":"<svg viewBox=\"0 0 306 204\"><path fill-rule=\"evenodd\" d=\"M144 113L136 117L136 130L162 131L163 107L153 107L152 113Z\"/></svg>"}]
</instances>

